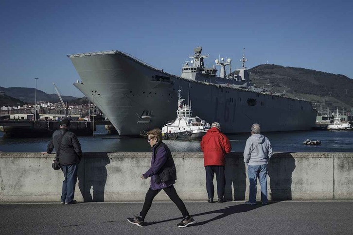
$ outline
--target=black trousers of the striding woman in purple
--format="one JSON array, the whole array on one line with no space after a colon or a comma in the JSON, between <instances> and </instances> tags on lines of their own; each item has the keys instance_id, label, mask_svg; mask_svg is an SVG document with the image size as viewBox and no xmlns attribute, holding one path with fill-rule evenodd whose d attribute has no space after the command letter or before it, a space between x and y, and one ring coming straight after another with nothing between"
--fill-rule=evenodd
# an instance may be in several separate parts
<instances>
[{"instance_id":1,"label":"black trousers of the striding woman in purple","mask_svg":"<svg viewBox=\"0 0 353 235\"><path fill-rule=\"evenodd\" d=\"M142 211L140 212L140 216L143 219L146 217L148 210L151 208L153 199L157 196L160 190L162 189L157 189L157 190L153 190L152 188L148 189L146 193L146 198L143 203ZM168 195L168 197L176 204L176 206L180 210L183 217L184 218L188 217L189 212L186 209L184 202L181 201L181 199L177 195L175 187L173 185L170 185L169 187L163 188L163 190Z\"/></svg>"}]
</instances>

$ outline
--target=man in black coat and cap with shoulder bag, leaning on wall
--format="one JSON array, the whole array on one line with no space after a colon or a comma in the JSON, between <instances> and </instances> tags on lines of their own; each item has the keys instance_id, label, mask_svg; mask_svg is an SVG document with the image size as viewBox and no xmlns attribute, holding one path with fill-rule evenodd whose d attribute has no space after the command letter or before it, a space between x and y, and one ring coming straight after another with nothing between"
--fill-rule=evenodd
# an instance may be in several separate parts
<instances>
[{"instance_id":1,"label":"man in black coat and cap with shoulder bag, leaning on wall","mask_svg":"<svg viewBox=\"0 0 353 235\"><path fill-rule=\"evenodd\" d=\"M42 154L52 153L55 148L56 153L59 153L59 164L65 177L61 194L61 204L76 203L73 197L77 181L78 164L82 158L80 142L76 135L69 131L69 127L70 120L62 120L60 130L56 130L53 133L47 151L42 152Z\"/></svg>"}]
</instances>

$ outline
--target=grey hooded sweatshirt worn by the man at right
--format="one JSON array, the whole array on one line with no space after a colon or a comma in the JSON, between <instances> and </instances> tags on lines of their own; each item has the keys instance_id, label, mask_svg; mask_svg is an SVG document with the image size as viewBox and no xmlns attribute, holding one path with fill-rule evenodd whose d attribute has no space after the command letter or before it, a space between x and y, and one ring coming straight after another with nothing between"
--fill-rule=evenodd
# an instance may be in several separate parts
<instances>
[{"instance_id":1,"label":"grey hooded sweatshirt worn by the man at right","mask_svg":"<svg viewBox=\"0 0 353 235\"><path fill-rule=\"evenodd\" d=\"M247 138L244 149L244 162L250 166L267 164L272 156L270 141L262 134L252 134Z\"/></svg>"}]
</instances>

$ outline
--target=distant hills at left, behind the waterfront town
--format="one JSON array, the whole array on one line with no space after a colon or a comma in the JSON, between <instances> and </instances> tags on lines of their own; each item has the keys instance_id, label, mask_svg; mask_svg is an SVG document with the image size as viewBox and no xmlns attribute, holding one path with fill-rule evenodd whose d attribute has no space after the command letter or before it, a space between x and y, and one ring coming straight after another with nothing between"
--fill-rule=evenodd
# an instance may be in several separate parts
<instances>
[{"instance_id":1,"label":"distant hills at left, behind the waterfront town","mask_svg":"<svg viewBox=\"0 0 353 235\"><path fill-rule=\"evenodd\" d=\"M1 87L0 91L4 92L5 95L16 98L18 100L35 103L35 88L27 87ZM73 96L61 96L64 102L70 102L71 100L76 100L77 97ZM47 94L44 91L37 89L37 101L46 102L60 102L59 96L57 94Z\"/></svg>"}]
</instances>

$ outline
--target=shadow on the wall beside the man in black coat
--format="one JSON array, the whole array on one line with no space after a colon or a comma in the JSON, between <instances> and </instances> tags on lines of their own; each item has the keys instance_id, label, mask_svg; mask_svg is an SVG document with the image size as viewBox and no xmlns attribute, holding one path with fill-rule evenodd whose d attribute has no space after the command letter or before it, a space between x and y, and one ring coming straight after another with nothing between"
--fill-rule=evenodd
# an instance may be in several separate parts
<instances>
[{"instance_id":1,"label":"shadow on the wall beside the man in black coat","mask_svg":"<svg viewBox=\"0 0 353 235\"><path fill-rule=\"evenodd\" d=\"M85 152L78 169L78 186L84 202L104 201L106 165L110 163L106 152Z\"/></svg>"}]
</instances>

